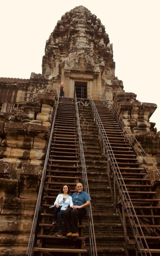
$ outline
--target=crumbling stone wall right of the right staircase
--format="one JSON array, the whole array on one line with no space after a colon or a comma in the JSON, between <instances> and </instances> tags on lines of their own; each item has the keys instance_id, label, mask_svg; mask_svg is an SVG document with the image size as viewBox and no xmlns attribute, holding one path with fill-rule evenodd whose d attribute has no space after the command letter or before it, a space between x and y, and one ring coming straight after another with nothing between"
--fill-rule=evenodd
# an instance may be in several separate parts
<instances>
[{"instance_id":1,"label":"crumbling stone wall right of the right staircase","mask_svg":"<svg viewBox=\"0 0 160 256\"><path fill-rule=\"evenodd\" d=\"M154 128L155 123L149 122L149 118L156 110L157 105L154 103L141 103L136 100L136 97L137 95L134 93L117 92L113 97L113 105L123 119L124 125L126 125L124 129L130 134L132 132L160 172L160 132L157 132L157 129ZM153 189L160 194L159 173L150 159L144 155L138 143L133 140L133 144L135 148L139 148L144 157L144 159L141 157L141 161L148 167Z\"/></svg>"}]
</instances>

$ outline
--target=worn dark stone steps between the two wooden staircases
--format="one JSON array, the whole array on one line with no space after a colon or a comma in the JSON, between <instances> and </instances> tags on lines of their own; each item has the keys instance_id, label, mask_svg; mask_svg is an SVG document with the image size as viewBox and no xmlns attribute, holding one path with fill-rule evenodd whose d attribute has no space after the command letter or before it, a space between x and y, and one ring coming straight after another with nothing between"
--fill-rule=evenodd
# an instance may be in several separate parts
<instances>
[{"instance_id":1,"label":"worn dark stone steps between the two wooden staircases","mask_svg":"<svg viewBox=\"0 0 160 256\"><path fill-rule=\"evenodd\" d=\"M98 255L124 256L124 231L119 215L113 207L111 190L107 177L107 162L104 161L98 130L94 124L91 107L78 107L81 116L81 131L84 146L92 215ZM89 118L85 118L89 116ZM92 129L87 130L87 127ZM94 127L94 130L93 130ZM85 223L86 226L88 225ZM84 230L84 235L86 234ZM87 241L86 241L87 244Z\"/></svg>"}]
</instances>

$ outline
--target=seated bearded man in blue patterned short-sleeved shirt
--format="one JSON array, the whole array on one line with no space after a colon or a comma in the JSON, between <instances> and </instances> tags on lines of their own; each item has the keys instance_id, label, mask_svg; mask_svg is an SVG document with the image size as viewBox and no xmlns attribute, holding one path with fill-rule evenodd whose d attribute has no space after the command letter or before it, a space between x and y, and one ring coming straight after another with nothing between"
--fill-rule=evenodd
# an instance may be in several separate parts
<instances>
[{"instance_id":1,"label":"seated bearded man in blue patterned short-sleeved shirt","mask_svg":"<svg viewBox=\"0 0 160 256\"><path fill-rule=\"evenodd\" d=\"M87 214L87 209L90 204L88 193L83 191L81 183L76 184L77 192L73 193L73 205L63 212L64 223L67 229L67 236L77 237L78 233L78 220Z\"/></svg>"}]
</instances>

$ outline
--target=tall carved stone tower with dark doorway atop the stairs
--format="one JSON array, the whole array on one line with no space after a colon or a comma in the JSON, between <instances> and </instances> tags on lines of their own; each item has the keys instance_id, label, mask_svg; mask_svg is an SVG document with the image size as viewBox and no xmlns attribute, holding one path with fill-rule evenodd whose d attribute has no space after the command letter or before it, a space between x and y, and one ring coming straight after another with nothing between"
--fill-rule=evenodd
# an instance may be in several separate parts
<instances>
[{"instance_id":1,"label":"tall carved stone tower with dark doorway atop the stairs","mask_svg":"<svg viewBox=\"0 0 160 256\"><path fill-rule=\"evenodd\" d=\"M65 84L65 97L74 97L75 87L84 88L98 98L104 89L112 99L122 92L123 84L115 78L112 44L100 19L83 6L66 12L58 20L45 46L42 73L52 79L53 87ZM81 96L81 95L80 95Z\"/></svg>"}]
</instances>

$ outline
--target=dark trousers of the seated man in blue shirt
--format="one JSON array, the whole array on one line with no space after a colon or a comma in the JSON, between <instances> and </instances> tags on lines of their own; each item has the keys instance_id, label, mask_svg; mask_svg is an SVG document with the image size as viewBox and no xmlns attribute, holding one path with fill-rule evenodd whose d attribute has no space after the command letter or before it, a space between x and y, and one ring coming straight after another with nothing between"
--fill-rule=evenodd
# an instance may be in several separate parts
<instances>
[{"instance_id":1,"label":"dark trousers of the seated man in blue shirt","mask_svg":"<svg viewBox=\"0 0 160 256\"><path fill-rule=\"evenodd\" d=\"M67 229L67 233L78 232L78 220L79 218L83 218L86 215L86 213L87 211L85 208L73 209L72 207L69 207L67 210L63 212L63 219Z\"/></svg>"}]
</instances>

